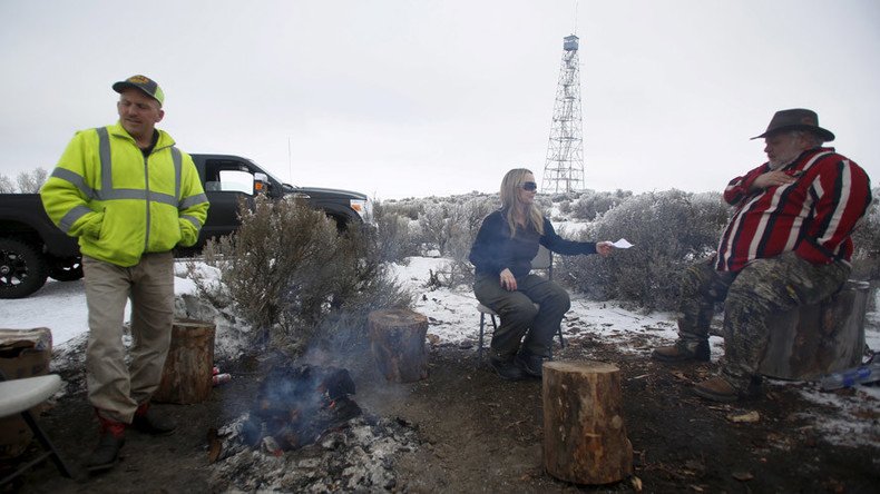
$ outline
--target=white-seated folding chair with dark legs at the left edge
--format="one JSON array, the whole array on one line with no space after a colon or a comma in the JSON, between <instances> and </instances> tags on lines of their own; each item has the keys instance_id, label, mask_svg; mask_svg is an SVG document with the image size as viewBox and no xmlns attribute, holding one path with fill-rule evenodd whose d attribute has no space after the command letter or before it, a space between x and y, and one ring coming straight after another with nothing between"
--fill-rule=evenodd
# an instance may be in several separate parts
<instances>
[{"instance_id":1,"label":"white-seated folding chair with dark legs at the left edge","mask_svg":"<svg viewBox=\"0 0 880 494\"><path fill-rule=\"evenodd\" d=\"M21 418L28 424L28 427L33 432L33 435L39 439L45 452L35 460L19 466L16 472L7 475L0 480L0 485L11 482L13 478L21 475L31 466L37 465L47 457L51 457L55 466L61 475L71 477L70 470L65 464L58 449L55 448L49 437L43 433L42 428L37 424L30 408L39 405L40 403L49 399L58 389L61 388L61 378L57 374L49 374L47 376L25 377L21 379L6 381L6 376L0 373L0 417L9 415L21 414Z\"/></svg>"}]
</instances>

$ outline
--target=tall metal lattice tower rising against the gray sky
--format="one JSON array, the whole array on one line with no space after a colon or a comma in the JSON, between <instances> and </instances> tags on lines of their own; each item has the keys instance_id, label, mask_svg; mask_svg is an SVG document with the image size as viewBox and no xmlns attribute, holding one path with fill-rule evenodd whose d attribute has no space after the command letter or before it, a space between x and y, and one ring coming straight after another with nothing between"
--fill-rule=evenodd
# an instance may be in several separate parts
<instances>
[{"instance_id":1,"label":"tall metal lattice tower rising against the gray sky","mask_svg":"<svg viewBox=\"0 0 880 494\"><path fill-rule=\"evenodd\" d=\"M563 39L563 65L544 165L541 189L548 192L571 192L584 189L584 137L580 113L580 63L578 38Z\"/></svg>"}]
</instances>

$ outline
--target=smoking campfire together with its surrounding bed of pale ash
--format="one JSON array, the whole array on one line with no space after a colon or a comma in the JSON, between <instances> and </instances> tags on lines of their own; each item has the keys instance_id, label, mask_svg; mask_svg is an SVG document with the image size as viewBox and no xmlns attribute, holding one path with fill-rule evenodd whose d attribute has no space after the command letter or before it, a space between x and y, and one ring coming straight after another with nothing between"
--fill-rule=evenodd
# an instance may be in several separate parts
<instances>
[{"instance_id":1,"label":"smoking campfire together with its surrounding bed of pale ash","mask_svg":"<svg viewBox=\"0 0 880 494\"><path fill-rule=\"evenodd\" d=\"M372 492L397 485L393 457L413 451L411 424L363 413L346 369L277 366L253 408L208 433L213 488Z\"/></svg>"}]
</instances>

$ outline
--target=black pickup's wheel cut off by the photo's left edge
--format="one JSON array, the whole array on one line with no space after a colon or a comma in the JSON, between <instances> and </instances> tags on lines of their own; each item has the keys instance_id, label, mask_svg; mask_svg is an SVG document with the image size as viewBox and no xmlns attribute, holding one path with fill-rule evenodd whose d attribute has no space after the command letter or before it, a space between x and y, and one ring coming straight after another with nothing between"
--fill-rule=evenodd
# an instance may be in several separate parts
<instances>
[{"instance_id":1,"label":"black pickup's wheel cut off by the photo's left edge","mask_svg":"<svg viewBox=\"0 0 880 494\"><path fill-rule=\"evenodd\" d=\"M47 267L31 246L0 238L0 298L23 298L46 284Z\"/></svg>"}]
</instances>

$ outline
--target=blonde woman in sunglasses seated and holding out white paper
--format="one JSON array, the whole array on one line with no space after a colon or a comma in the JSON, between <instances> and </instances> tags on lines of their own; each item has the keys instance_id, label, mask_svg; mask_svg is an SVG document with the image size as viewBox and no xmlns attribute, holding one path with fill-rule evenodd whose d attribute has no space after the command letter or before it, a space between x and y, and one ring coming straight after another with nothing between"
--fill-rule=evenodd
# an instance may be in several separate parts
<instances>
[{"instance_id":1,"label":"blonde woman in sunglasses seated and holding out white paper","mask_svg":"<svg viewBox=\"0 0 880 494\"><path fill-rule=\"evenodd\" d=\"M529 273L538 245L565 255L607 256L614 248L609 241L574 241L556 235L535 205L537 190L531 171L508 171L501 181L501 209L482 220L469 257L476 268L477 299L501 318L492 334L490 363L506 379L541 376L553 337L571 306L563 287Z\"/></svg>"}]
</instances>

